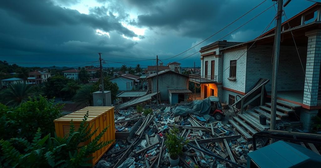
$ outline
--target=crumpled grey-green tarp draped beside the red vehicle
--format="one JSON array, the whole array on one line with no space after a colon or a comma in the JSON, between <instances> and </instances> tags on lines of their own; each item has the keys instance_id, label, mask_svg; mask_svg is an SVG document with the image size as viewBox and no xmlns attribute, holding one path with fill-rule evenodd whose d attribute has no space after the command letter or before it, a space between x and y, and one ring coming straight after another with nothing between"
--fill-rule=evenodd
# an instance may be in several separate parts
<instances>
[{"instance_id":1,"label":"crumpled grey-green tarp draped beside the red vehicle","mask_svg":"<svg viewBox=\"0 0 321 168\"><path fill-rule=\"evenodd\" d=\"M172 112L175 117L187 116L187 114L194 114L198 116L208 115L211 112L211 100L209 98L204 100L194 100L184 105L174 107Z\"/></svg>"}]
</instances>

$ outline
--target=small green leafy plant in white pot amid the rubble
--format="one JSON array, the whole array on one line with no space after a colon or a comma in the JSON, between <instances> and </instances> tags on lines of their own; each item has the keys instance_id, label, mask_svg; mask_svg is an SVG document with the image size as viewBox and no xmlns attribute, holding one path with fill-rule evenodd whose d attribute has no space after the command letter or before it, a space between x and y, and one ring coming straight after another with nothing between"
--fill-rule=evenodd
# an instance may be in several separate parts
<instances>
[{"instance_id":1,"label":"small green leafy plant in white pot amid the rubble","mask_svg":"<svg viewBox=\"0 0 321 168\"><path fill-rule=\"evenodd\" d=\"M173 128L166 133L165 145L169 153L169 163L171 166L177 166L179 164L179 155L183 153L183 147L188 143L184 137L179 136L179 130Z\"/></svg>"}]
</instances>

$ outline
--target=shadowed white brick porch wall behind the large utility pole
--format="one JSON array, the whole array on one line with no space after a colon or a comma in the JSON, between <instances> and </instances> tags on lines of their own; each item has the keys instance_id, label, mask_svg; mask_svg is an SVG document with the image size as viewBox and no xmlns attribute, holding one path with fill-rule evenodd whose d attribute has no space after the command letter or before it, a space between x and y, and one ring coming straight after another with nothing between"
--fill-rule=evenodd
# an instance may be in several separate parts
<instances>
[{"instance_id":1,"label":"shadowed white brick porch wall behind the large utility pole","mask_svg":"<svg viewBox=\"0 0 321 168\"><path fill-rule=\"evenodd\" d=\"M299 47L299 54L305 69L307 47ZM246 66L246 92L253 89L260 78L270 79L265 86L267 91L272 88L272 46L258 45L256 48L247 51ZM291 91L304 89L305 74L294 46L281 46L278 91Z\"/></svg>"}]
</instances>

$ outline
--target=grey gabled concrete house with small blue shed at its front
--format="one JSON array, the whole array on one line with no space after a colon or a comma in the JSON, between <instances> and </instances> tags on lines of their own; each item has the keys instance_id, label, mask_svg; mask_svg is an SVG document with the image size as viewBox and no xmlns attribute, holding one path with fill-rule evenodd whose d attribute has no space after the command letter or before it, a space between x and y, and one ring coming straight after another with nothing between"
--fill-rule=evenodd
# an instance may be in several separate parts
<instances>
[{"instance_id":1,"label":"grey gabled concrete house with small blue shed at its front","mask_svg":"<svg viewBox=\"0 0 321 168\"><path fill-rule=\"evenodd\" d=\"M147 76L148 91L157 92L157 75ZM158 73L158 91L160 92L160 101L169 100L171 104L178 103L188 99L188 76L179 74L170 69Z\"/></svg>"}]
</instances>

